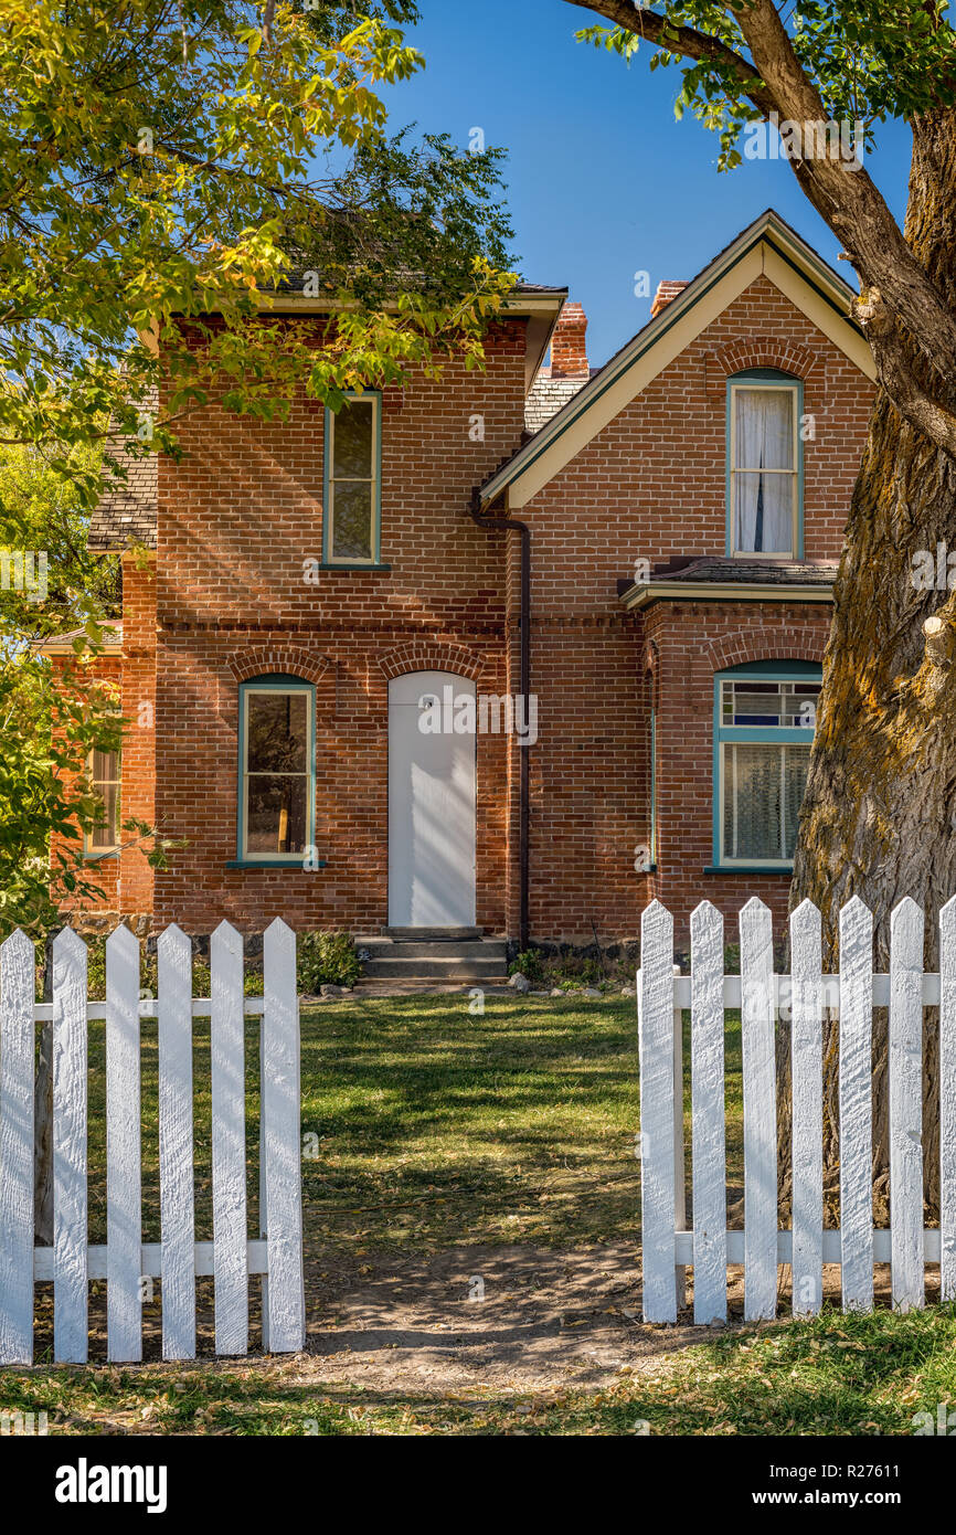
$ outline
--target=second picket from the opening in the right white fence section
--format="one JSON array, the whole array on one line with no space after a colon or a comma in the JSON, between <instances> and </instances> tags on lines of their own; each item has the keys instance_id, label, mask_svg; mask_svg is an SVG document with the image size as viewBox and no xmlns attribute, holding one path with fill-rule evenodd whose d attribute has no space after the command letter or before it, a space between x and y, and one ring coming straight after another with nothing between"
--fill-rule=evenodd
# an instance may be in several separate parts
<instances>
[{"instance_id":1,"label":"second picket from the opening in the right white fence section","mask_svg":"<svg viewBox=\"0 0 956 1535\"><path fill-rule=\"evenodd\" d=\"M727 1317L724 1148L724 919L709 901L691 915L691 1099L694 1320Z\"/></svg>"}]
</instances>

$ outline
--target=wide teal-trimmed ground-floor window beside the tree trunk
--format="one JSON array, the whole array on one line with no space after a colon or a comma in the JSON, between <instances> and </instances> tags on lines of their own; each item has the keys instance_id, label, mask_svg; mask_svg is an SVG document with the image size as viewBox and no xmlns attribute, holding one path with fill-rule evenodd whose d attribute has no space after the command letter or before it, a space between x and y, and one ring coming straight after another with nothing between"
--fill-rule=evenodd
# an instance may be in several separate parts
<instances>
[{"instance_id":1,"label":"wide teal-trimmed ground-floor window beside the tree trunk","mask_svg":"<svg viewBox=\"0 0 956 1535\"><path fill-rule=\"evenodd\" d=\"M721 672L714 700L714 861L789 869L816 728L821 668L767 662Z\"/></svg>"}]
</instances>

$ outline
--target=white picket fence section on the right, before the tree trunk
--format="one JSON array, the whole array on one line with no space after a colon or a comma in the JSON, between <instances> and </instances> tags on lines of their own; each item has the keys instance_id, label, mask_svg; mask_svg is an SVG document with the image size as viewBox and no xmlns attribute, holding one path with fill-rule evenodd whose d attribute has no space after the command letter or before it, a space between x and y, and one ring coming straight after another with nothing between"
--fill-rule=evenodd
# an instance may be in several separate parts
<instances>
[{"instance_id":1,"label":"white picket fence section on the right, before the tree trunk","mask_svg":"<svg viewBox=\"0 0 956 1535\"><path fill-rule=\"evenodd\" d=\"M691 918L691 975L675 975L674 919L654 901L641 919L637 978L641 1113L643 1306L675 1322L686 1268L694 1320L727 1315L727 1265L744 1266L744 1317L776 1314L778 1268L792 1266L795 1314L822 1303L822 1265L841 1265L842 1306L873 1306L873 1265L892 1265L893 1305L925 1302L925 1265L956 1299L956 898L939 913L939 975L922 970L924 913L890 918L890 973L873 973L873 918L858 898L839 913L839 975L821 973L819 912L790 916L790 975L773 973L769 909L740 913L740 975L724 975L724 923L709 901ZM924 1230L922 1008L939 1007L941 1222ZM890 1228L873 1226L872 1028L888 1007ZM681 1008L691 1008L692 1230L686 1228ZM724 1008L741 1010L744 1230L727 1231ZM839 1230L822 1222L822 1010L839 1012ZM792 1220L776 1216L775 1028L792 1039Z\"/></svg>"}]
</instances>

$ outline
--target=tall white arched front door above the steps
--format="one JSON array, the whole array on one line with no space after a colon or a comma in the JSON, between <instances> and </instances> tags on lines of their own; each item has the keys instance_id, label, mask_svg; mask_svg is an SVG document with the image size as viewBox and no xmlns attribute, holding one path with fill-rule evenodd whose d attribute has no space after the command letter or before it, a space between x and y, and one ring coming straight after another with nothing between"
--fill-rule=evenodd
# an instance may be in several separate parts
<instances>
[{"instance_id":1,"label":"tall white arched front door above the steps","mask_svg":"<svg viewBox=\"0 0 956 1535\"><path fill-rule=\"evenodd\" d=\"M476 737L419 728L434 726L434 700L462 695L474 683L453 672L388 683L390 927L474 926Z\"/></svg>"}]
</instances>

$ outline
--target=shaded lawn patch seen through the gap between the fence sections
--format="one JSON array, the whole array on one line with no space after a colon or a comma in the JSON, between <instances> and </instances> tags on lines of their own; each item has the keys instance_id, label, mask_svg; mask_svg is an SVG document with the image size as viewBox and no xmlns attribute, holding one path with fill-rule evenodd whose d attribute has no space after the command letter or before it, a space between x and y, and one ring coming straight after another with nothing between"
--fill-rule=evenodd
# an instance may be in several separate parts
<instances>
[{"instance_id":1,"label":"shaded lawn patch seen through the gap between the fence sections","mask_svg":"<svg viewBox=\"0 0 956 1535\"><path fill-rule=\"evenodd\" d=\"M302 1033L313 1242L637 1234L634 1004L368 1001L313 1012Z\"/></svg>"}]
</instances>

